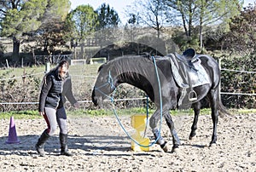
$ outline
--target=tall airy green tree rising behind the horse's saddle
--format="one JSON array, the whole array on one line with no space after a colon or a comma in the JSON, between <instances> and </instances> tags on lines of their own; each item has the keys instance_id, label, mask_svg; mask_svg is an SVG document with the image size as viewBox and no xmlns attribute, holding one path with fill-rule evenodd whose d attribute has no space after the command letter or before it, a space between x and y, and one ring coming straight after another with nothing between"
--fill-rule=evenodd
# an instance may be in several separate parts
<instances>
[{"instance_id":1,"label":"tall airy green tree rising behind the horse's saddle","mask_svg":"<svg viewBox=\"0 0 256 172\"><path fill-rule=\"evenodd\" d=\"M228 26L230 18L239 14L241 10L240 0L163 0L169 11L177 14L187 37L195 35L193 29L199 26L199 38L202 43L202 32L205 26L216 24L223 25L224 29ZM173 14L167 13L172 16ZM178 23L177 23L178 25Z\"/></svg>"}]
</instances>

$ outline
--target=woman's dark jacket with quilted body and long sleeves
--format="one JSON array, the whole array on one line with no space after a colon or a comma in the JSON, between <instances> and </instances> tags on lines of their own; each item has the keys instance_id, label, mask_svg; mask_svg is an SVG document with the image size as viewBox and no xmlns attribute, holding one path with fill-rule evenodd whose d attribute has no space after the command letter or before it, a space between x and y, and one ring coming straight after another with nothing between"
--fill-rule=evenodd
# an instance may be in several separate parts
<instances>
[{"instance_id":1,"label":"woman's dark jacket with quilted body and long sleeves","mask_svg":"<svg viewBox=\"0 0 256 172\"><path fill-rule=\"evenodd\" d=\"M58 75L58 70L49 72L44 77L43 86L39 96L38 111L44 112L44 107L59 109L63 107L64 102L69 100L72 104L77 101L73 97L71 77L67 73L67 77L62 80Z\"/></svg>"}]
</instances>

